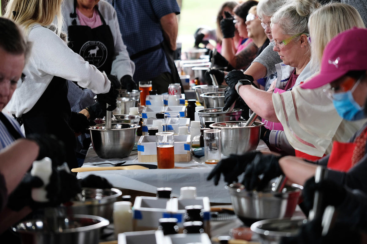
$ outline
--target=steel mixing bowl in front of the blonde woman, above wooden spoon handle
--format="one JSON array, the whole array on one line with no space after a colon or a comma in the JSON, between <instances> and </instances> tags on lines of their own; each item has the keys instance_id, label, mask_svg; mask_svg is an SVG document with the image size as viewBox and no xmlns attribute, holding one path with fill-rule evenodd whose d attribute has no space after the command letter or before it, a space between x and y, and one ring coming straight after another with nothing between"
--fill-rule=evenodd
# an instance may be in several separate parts
<instances>
[{"instance_id":1,"label":"steel mixing bowl in front of the blonde woman, above wooden spoon handle","mask_svg":"<svg viewBox=\"0 0 367 244\"><path fill-rule=\"evenodd\" d=\"M111 129L105 129L105 124L89 127L92 146L98 157L127 157L134 147L139 127L140 125L130 123L112 123Z\"/></svg>"}]
</instances>

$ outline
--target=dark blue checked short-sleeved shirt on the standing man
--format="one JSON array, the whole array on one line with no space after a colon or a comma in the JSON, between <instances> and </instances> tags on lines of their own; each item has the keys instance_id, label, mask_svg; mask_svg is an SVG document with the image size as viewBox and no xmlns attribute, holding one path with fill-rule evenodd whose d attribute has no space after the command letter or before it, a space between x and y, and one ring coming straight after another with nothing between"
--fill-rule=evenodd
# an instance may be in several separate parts
<instances>
[{"instance_id":1,"label":"dark blue checked short-sleeved shirt on the standing man","mask_svg":"<svg viewBox=\"0 0 367 244\"><path fill-rule=\"evenodd\" d=\"M121 36L129 56L163 41L160 18L180 13L176 0L108 0L113 3L119 20ZM162 48L132 60L134 80L149 80L170 72Z\"/></svg>"}]
</instances>

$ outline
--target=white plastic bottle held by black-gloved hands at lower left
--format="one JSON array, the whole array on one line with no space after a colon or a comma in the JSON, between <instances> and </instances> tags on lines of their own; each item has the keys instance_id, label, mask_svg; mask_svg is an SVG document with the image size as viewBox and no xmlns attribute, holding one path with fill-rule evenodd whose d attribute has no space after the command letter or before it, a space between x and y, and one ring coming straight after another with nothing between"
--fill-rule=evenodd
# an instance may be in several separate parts
<instances>
[{"instance_id":1,"label":"white plastic bottle held by black-gloved hands at lower left","mask_svg":"<svg viewBox=\"0 0 367 244\"><path fill-rule=\"evenodd\" d=\"M36 202L48 202L45 187L50 183L50 176L52 174L51 158L46 157L39 161L34 161L30 174L39 177L43 181L43 186L32 189L32 199Z\"/></svg>"}]
</instances>

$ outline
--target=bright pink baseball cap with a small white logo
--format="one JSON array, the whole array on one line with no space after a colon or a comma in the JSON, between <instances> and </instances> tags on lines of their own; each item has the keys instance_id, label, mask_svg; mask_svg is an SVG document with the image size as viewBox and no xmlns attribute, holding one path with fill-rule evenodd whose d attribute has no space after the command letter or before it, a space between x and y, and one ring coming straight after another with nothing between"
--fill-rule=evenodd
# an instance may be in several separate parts
<instances>
[{"instance_id":1,"label":"bright pink baseball cap with a small white logo","mask_svg":"<svg viewBox=\"0 0 367 244\"><path fill-rule=\"evenodd\" d=\"M315 89L342 77L349 71L367 70L367 29L353 27L326 45L318 75L301 85Z\"/></svg>"}]
</instances>

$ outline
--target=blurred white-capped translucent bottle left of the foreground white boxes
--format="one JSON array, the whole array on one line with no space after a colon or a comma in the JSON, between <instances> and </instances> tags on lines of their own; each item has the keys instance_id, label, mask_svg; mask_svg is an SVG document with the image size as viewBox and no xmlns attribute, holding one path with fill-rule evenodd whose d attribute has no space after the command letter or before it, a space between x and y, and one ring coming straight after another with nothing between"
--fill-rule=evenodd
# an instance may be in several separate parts
<instances>
[{"instance_id":1,"label":"blurred white-capped translucent bottle left of the foreground white boxes","mask_svg":"<svg viewBox=\"0 0 367 244\"><path fill-rule=\"evenodd\" d=\"M115 235L132 231L131 202L115 202L113 204L113 225Z\"/></svg>"}]
</instances>

